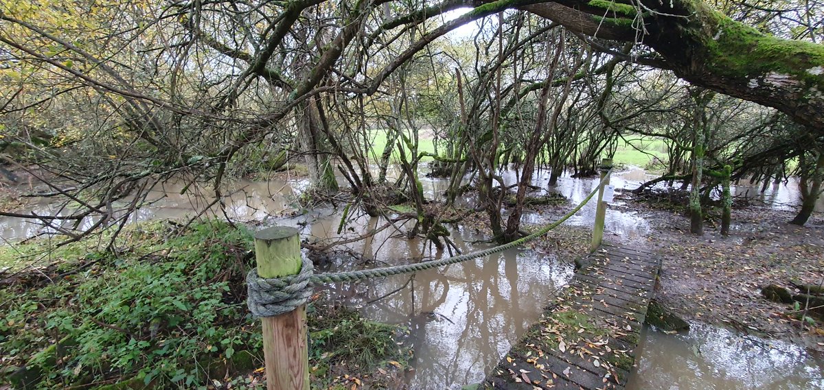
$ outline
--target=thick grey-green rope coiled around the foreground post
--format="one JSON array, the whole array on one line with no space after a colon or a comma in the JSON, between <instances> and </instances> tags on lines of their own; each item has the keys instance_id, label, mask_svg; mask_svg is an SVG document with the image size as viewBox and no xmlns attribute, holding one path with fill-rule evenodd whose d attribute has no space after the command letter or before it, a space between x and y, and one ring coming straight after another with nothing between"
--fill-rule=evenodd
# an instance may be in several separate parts
<instances>
[{"instance_id":1,"label":"thick grey-green rope coiled around the foreground post","mask_svg":"<svg viewBox=\"0 0 824 390\"><path fill-rule=\"evenodd\" d=\"M312 294L313 274L314 265L307 258L302 259L301 271L297 275L267 279L260 277L257 268L253 268L246 274L249 311L255 318L274 317L306 304Z\"/></svg>"}]
</instances>

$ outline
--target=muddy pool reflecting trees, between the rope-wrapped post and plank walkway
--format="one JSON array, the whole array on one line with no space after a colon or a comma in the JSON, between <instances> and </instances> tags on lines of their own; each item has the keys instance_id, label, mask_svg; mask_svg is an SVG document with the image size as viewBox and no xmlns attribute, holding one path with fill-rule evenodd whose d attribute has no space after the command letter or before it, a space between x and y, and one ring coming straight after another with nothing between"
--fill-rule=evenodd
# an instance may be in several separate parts
<instances>
[{"instance_id":1,"label":"muddy pool reflecting trees, between the rope-wrapped post and plank walkway","mask_svg":"<svg viewBox=\"0 0 824 390\"><path fill-rule=\"evenodd\" d=\"M368 231L380 223L363 216L350 220L349 227ZM321 218L310 221L302 234L311 242L345 239L345 230L338 234L338 225L339 216ZM491 246L466 244L465 240L481 239L468 230L453 230L452 239L461 251ZM424 247L419 239L393 239L394 232L387 229L344 246L372 260L374 267L447 256ZM329 287L332 297L363 306L368 318L408 326L415 352L410 387L442 389L480 381L538 318L547 295L571 276L571 267L555 258L512 250L419 272L411 281L410 276L391 276Z\"/></svg>"}]
</instances>

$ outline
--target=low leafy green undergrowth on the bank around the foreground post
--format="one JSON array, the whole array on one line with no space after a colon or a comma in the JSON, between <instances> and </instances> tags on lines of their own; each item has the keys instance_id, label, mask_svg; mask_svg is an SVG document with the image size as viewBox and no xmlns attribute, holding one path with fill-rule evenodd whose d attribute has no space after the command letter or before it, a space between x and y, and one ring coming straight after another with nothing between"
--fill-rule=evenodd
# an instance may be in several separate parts
<instances>
[{"instance_id":1,"label":"low leafy green undergrowth on the bank around the foreground post","mask_svg":"<svg viewBox=\"0 0 824 390\"><path fill-rule=\"evenodd\" d=\"M213 378L262 365L260 322L245 302L250 230L158 221L119 234L117 254L99 242L108 241L47 254L46 239L2 247L0 258L21 272L0 275L0 383L205 388ZM24 269L19 258L40 261ZM310 304L308 312L313 382L342 365L372 369L406 356L396 327L326 304Z\"/></svg>"}]
</instances>

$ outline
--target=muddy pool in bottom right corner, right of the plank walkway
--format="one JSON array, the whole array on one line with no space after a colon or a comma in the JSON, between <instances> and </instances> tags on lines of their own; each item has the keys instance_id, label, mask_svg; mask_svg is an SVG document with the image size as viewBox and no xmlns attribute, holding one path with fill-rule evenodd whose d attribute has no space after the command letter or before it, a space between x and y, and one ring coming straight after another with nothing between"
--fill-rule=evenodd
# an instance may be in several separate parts
<instances>
[{"instance_id":1,"label":"muddy pool in bottom right corner, right of the plank walkway","mask_svg":"<svg viewBox=\"0 0 824 390\"><path fill-rule=\"evenodd\" d=\"M644 332L628 390L824 389L824 361L800 346L702 323L683 335Z\"/></svg>"}]
</instances>

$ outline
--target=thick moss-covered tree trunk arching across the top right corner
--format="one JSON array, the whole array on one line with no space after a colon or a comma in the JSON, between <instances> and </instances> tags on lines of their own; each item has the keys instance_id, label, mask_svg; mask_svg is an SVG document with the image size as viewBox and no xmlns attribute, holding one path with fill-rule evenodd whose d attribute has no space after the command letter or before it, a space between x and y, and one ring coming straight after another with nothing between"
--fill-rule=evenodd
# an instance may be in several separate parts
<instances>
[{"instance_id":1,"label":"thick moss-covered tree trunk arching across the top right corner","mask_svg":"<svg viewBox=\"0 0 824 390\"><path fill-rule=\"evenodd\" d=\"M649 64L695 86L775 107L824 134L824 45L762 34L700 0L641 2L644 32L634 28L641 7L622 2L556 0L520 8L598 38L640 37L664 59Z\"/></svg>"}]
</instances>

